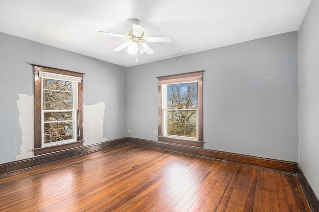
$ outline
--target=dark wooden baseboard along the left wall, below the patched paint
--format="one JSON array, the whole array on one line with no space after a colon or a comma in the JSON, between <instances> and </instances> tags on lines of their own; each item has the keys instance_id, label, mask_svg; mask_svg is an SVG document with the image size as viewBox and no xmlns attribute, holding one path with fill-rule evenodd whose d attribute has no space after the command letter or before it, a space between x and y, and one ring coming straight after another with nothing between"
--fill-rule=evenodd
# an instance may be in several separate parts
<instances>
[{"instance_id":1,"label":"dark wooden baseboard along the left wall, below the patched paint","mask_svg":"<svg viewBox=\"0 0 319 212\"><path fill-rule=\"evenodd\" d=\"M123 144L126 142L127 142L126 137L119 138L119 139L115 139L111 141L92 144L89 146L81 146L81 147L62 150L62 151L53 152L53 153L49 153L45 155L39 155L32 158L24 159L24 160L3 163L3 164L0 164L0 175L50 163L57 160L62 160L62 159L70 158L70 157L87 154L90 152L99 151L101 149L109 148L109 147Z\"/></svg>"}]
</instances>

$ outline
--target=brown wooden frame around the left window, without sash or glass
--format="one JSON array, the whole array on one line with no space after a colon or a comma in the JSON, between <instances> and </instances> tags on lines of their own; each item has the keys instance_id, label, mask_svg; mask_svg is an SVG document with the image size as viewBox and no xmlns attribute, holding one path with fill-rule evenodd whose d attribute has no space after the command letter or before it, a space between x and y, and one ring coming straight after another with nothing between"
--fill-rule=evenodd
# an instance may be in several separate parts
<instances>
[{"instance_id":1,"label":"brown wooden frame around the left window, without sash or glass","mask_svg":"<svg viewBox=\"0 0 319 212\"><path fill-rule=\"evenodd\" d=\"M70 143L60 144L60 145L52 145L47 147L42 147L42 127L41 127L41 81L42 78L39 77L38 72L49 72L54 74L68 75L73 77L82 77L81 83L78 83L78 128L79 128L79 137L77 141L73 141ZM74 147L83 146L83 76L84 74L78 72L72 72L62 69L55 69L43 66L33 65L34 72L34 155L41 155L56 151L61 151L65 149L70 149Z\"/></svg>"}]
</instances>

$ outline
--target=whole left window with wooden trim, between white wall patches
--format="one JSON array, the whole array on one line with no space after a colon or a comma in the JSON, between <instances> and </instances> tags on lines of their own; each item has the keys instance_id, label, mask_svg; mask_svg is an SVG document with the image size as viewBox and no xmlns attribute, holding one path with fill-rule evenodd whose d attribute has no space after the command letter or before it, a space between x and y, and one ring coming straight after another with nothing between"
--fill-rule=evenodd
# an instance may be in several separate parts
<instances>
[{"instance_id":1,"label":"whole left window with wooden trim, between white wall patches","mask_svg":"<svg viewBox=\"0 0 319 212\"><path fill-rule=\"evenodd\" d=\"M83 145L83 74L34 66L34 155Z\"/></svg>"}]
</instances>

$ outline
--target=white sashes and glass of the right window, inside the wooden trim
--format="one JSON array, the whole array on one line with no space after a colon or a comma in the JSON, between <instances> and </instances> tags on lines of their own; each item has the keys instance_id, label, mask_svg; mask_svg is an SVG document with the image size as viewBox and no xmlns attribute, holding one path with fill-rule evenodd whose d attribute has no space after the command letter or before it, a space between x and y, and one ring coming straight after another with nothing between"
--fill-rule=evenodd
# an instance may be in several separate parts
<instances>
[{"instance_id":1,"label":"white sashes and glass of the right window, inside the wooden trim","mask_svg":"<svg viewBox=\"0 0 319 212\"><path fill-rule=\"evenodd\" d=\"M197 82L166 84L163 95L163 135L197 138Z\"/></svg>"}]
</instances>

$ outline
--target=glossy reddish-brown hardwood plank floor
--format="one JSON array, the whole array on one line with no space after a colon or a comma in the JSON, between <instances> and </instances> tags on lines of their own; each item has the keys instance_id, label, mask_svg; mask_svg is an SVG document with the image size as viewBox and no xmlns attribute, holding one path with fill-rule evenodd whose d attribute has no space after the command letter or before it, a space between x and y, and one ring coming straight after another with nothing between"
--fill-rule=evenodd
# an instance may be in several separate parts
<instances>
[{"instance_id":1,"label":"glossy reddish-brown hardwood plank floor","mask_svg":"<svg viewBox=\"0 0 319 212\"><path fill-rule=\"evenodd\" d=\"M134 144L0 176L0 211L310 211L292 173Z\"/></svg>"}]
</instances>

